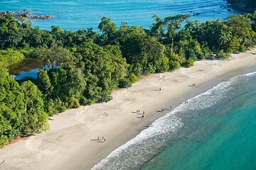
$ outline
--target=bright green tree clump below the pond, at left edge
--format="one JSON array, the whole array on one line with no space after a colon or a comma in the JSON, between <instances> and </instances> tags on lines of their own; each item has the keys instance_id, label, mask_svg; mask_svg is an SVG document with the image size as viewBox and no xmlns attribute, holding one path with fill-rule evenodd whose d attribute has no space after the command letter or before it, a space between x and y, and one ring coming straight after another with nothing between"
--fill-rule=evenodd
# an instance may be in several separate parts
<instances>
[{"instance_id":1,"label":"bright green tree clump below the pond, at left edge","mask_svg":"<svg viewBox=\"0 0 256 170\"><path fill-rule=\"evenodd\" d=\"M18 84L0 69L0 147L20 133L48 130L41 91L31 81Z\"/></svg>"}]
</instances>

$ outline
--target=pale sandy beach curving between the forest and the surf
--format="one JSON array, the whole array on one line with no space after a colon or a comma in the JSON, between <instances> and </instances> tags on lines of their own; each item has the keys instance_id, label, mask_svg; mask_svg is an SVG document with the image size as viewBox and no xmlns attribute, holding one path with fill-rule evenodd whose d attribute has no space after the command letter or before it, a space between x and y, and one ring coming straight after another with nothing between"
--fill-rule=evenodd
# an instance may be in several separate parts
<instances>
[{"instance_id":1,"label":"pale sandy beach curving between the forest and the surf","mask_svg":"<svg viewBox=\"0 0 256 170\"><path fill-rule=\"evenodd\" d=\"M169 113L170 106L175 108L237 75L256 72L256 55L252 52L256 49L234 54L229 60L203 60L191 68L151 74L129 89L113 91L110 102L55 115L49 120L50 131L0 149L0 169L92 169Z\"/></svg>"}]
</instances>

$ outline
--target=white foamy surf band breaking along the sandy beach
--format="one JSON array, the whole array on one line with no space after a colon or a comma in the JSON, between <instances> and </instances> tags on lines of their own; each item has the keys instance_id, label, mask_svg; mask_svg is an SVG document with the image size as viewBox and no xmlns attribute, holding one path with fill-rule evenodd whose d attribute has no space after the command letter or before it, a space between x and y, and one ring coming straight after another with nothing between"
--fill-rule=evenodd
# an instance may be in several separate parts
<instances>
[{"instance_id":1,"label":"white foamy surf band breaking along the sandy beach","mask_svg":"<svg viewBox=\"0 0 256 170\"><path fill-rule=\"evenodd\" d=\"M202 110L214 106L227 97L227 91L233 91L233 85L239 83L240 77L255 76L256 72L233 77L228 81L223 81L212 89L188 100L174 111L156 120L149 128L143 130L137 137L130 140L121 147L115 149L107 158L95 165L92 170L97 169L135 169L142 163L148 161L144 156L152 157L157 154L161 147L164 147L169 140L169 134L176 135L178 130L183 128L181 113L193 115L196 110ZM165 135L168 134L168 135ZM159 137L161 136L161 137ZM153 139L154 140L151 140ZM125 157L125 159L124 159Z\"/></svg>"}]
</instances>

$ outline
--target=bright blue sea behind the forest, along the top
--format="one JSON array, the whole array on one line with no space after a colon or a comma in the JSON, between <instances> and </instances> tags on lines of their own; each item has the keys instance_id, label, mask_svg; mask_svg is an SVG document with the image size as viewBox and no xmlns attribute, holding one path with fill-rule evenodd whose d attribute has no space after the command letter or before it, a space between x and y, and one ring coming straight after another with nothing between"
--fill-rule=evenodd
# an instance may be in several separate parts
<instances>
[{"instance_id":1,"label":"bright blue sea behind the forest, along the top","mask_svg":"<svg viewBox=\"0 0 256 170\"><path fill-rule=\"evenodd\" d=\"M102 16L112 18L119 26L128 22L130 26L149 28L152 13L158 16L173 16L178 13L201 13L191 20L215 20L228 18L235 11L221 8L223 0L1 0L0 11L33 10L33 14L53 15L50 20L33 20L34 26L50 29L56 25L68 30L97 28Z\"/></svg>"}]
</instances>

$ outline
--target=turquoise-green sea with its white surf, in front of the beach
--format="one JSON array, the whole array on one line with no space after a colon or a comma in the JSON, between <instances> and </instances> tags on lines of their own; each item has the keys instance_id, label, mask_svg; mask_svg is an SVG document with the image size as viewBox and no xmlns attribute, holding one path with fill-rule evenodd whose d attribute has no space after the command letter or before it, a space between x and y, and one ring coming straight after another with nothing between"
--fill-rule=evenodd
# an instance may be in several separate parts
<instances>
[{"instance_id":1,"label":"turquoise-green sea with its white surf, in front of the beach","mask_svg":"<svg viewBox=\"0 0 256 170\"><path fill-rule=\"evenodd\" d=\"M256 169L256 72L181 104L94 169Z\"/></svg>"}]
</instances>

